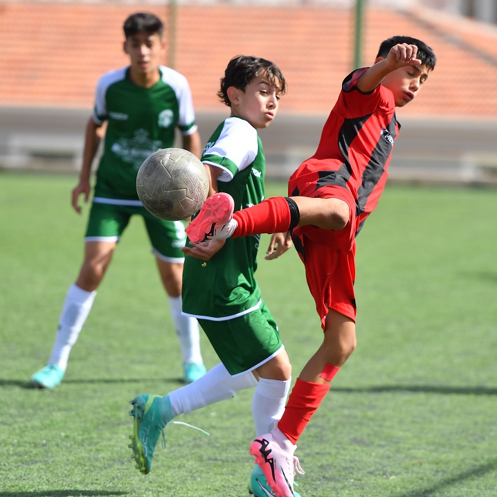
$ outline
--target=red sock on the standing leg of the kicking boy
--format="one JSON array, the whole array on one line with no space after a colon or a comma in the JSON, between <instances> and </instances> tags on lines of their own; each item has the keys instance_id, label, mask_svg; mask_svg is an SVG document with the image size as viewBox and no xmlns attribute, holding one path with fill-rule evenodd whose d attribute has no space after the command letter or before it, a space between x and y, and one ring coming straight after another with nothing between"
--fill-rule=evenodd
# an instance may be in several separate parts
<instances>
[{"instance_id":1,"label":"red sock on the standing leg of the kicking boy","mask_svg":"<svg viewBox=\"0 0 497 497\"><path fill-rule=\"evenodd\" d=\"M311 383L297 378L287 406L278 422L279 430L295 445L329 390L329 383Z\"/></svg>"}]
</instances>

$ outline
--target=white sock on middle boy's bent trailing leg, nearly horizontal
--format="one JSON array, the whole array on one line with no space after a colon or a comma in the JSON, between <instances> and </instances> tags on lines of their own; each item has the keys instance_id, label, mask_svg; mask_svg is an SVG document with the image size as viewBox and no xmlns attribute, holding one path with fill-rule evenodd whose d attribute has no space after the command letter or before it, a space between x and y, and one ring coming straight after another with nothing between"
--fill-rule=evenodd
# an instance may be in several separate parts
<instances>
[{"instance_id":1,"label":"white sock on middle boy's bent trailing leg, nearly horizontal","mask_svg":"<svg viewBox=\"0 0 497 497\"><path fill-rule=\"evenodd\" d=\"M257 380L250 371L233 377L224 364L217 364L193 383L170 392L172 413L174 416L188 414L192 410L231 399L239 390L256 385Z\"/></svg>"}]
</instances>

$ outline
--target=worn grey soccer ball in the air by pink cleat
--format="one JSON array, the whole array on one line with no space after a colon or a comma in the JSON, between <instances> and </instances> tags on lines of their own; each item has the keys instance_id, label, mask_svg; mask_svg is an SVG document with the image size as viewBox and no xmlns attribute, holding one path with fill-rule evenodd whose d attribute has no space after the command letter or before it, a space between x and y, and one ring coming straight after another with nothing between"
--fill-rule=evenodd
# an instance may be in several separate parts
<instances>
[{"instance_id":1,"label":"worn grey soccer ball in the air by pink cleat","mask_svg":"<svg viewBox=\"0 0 497 497\"><path fill-rule=\"evenodd\" d=\"M204 164L182 148L154 152L143 161L136 175L136 192L145 209L167 221L195 214L208 191Z\"/></svg>"}]
</instances>

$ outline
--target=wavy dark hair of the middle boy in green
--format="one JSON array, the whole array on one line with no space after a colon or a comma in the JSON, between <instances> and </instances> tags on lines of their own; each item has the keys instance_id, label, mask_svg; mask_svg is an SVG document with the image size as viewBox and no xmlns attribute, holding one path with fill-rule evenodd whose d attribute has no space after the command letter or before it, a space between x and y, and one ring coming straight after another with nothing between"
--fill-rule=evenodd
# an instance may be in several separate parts
<instances>
[{"instance_id":1,"label":"wavy dark hair of the middle boy in green","mask_svg":"<svg viewBox=\"0 0 497 497\"><path fill-rule=\"evenodd\" d=\"M251 57L249 55L237 55L233 57L224 71L224 78L221 80L221 89L217 92L219 99L231 107L228 98L228 88L235 87L245 91L247 84L250 84L260 73L266 73L269 83L278 89L281 94L287 91L287 84L280 68L270 60L261 57Z\"/></svg>"}]
</instances>

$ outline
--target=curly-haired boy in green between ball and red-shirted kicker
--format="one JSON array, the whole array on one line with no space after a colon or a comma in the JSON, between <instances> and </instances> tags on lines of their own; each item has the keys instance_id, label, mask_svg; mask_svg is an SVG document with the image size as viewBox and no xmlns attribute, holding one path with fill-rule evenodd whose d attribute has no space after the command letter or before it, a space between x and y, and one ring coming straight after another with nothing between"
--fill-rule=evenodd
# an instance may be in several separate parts
<instances>
[{"instance_id":1,"label":"curly-haired boy in green between ball and red-shirted kicker","mask_svg":"<svg viewBox=\"0 0 497 497\"><path fill-rule=\"evenodd\" d=\"M210 194L229 192L235 210L264 199L265 159L257 129L268 127L286 89L275 64L258 57L235 57L229 62L219 98L231 116L210 137L202 155L210 175ZM229 399L238 390L255 387L252 403L256 433L266 433L280 419L291 383L291 365L278 327L262 300L254 278L260 237L200 244L187 243L183 271L183 314L195 317L222 363L188 386L159 397L138 395L130 447L143 473L163 427L174 417ZM267 259L291 246L289 236L271 237ZM210 289L210 291L206 291ZM255 466L249 491L271 496L266 478Z\"/></svg>"}]
</instances>

